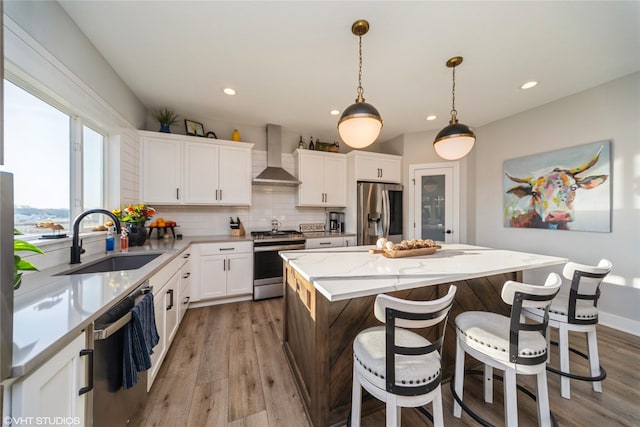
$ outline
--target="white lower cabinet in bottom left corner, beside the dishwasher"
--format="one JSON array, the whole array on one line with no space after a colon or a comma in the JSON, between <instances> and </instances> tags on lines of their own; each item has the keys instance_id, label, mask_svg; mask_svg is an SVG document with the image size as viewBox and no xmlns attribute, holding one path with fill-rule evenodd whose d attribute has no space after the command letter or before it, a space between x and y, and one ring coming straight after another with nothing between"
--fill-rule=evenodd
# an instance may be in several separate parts
<instances>
[{"instance_id":1,"label":"white lower cabinet in bottom left corner, beside the dishwasher","mask_svg":"<svg viewBox=\"0 0 640 427\"><path fill-rule=\"evenodd\" d=\"M85 417L87 394L86 334L83 332L64 349L11 389L11 416L33 417L33 424L78 425L90 424ZM36 418L39 417L39 418Z\"/></svg>"}]
</instances>

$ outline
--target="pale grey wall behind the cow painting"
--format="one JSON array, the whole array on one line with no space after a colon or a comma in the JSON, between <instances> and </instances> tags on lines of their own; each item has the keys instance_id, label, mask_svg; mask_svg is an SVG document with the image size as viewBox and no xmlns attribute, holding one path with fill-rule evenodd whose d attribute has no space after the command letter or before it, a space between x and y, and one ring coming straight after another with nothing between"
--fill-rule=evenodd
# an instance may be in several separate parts
<instances>
[{"instance_id":1,"label":"pale grey wall behind the cow painting","mask_svg":"<svg viewBox=\"0 0 640 427\"><path fill-rule=\"evenodd\" d=\"M476 244L584 264L608 258L614 267L602 289L601 322L640 334L640 73L491 123L476 134ZM602 140L612 141L611 233L503 226L505 159Z\"/></svg>"}]
</instances>

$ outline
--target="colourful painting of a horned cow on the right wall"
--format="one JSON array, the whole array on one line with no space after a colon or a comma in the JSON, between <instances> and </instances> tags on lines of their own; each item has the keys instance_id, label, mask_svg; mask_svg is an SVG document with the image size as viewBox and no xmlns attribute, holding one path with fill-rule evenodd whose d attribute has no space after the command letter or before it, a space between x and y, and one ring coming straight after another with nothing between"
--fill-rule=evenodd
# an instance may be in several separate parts
<instances>
[{"instance_id":1,"label":"colourful painting of a horned cow on the right wall","mask_svg":"<svg viewBox=\"0 0 640 427\"><path fill-rule=\"evenodd\" d=\"M504 161L504 226L611 232L611 141Z\"/></svg>"}]
</instances>

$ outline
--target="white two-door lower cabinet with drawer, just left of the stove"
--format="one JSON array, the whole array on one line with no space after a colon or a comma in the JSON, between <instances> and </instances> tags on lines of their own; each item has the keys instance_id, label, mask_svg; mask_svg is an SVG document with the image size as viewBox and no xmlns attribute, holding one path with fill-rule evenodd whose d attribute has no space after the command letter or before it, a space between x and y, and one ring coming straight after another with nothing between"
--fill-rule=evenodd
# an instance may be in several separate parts
<instances>
[{"instance_id":1,"label":"white two-door lower cabinet with drawer, just left of the stove","mask_svg":"<svg viewBox=\"0 0 640 427\"><path fill-rule=\"evenodd\" d=\"M192 285L193 301L253 293L253 242L196 246L199 256L198 274Z\"/></svg>"}]
</instances>

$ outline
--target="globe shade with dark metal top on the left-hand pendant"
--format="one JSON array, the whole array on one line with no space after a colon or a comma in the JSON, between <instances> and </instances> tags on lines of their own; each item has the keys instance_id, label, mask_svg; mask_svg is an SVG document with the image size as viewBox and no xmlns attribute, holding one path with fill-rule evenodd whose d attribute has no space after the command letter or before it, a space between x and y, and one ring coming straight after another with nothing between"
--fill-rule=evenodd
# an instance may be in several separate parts
<instances>
[{"instance_id":1,"label":"globe shade with dark metal top on the left-hand pendant","mask_svg":"<svg viewBox=\"0 0 640 427\"><path fill-rule=\"evenodd\" d=\"M364 148L378 138L382 129L382 118L378 110L366 102L347 107L338 122L340 138L350 147Z\"/></svg>"}]
</instances>

